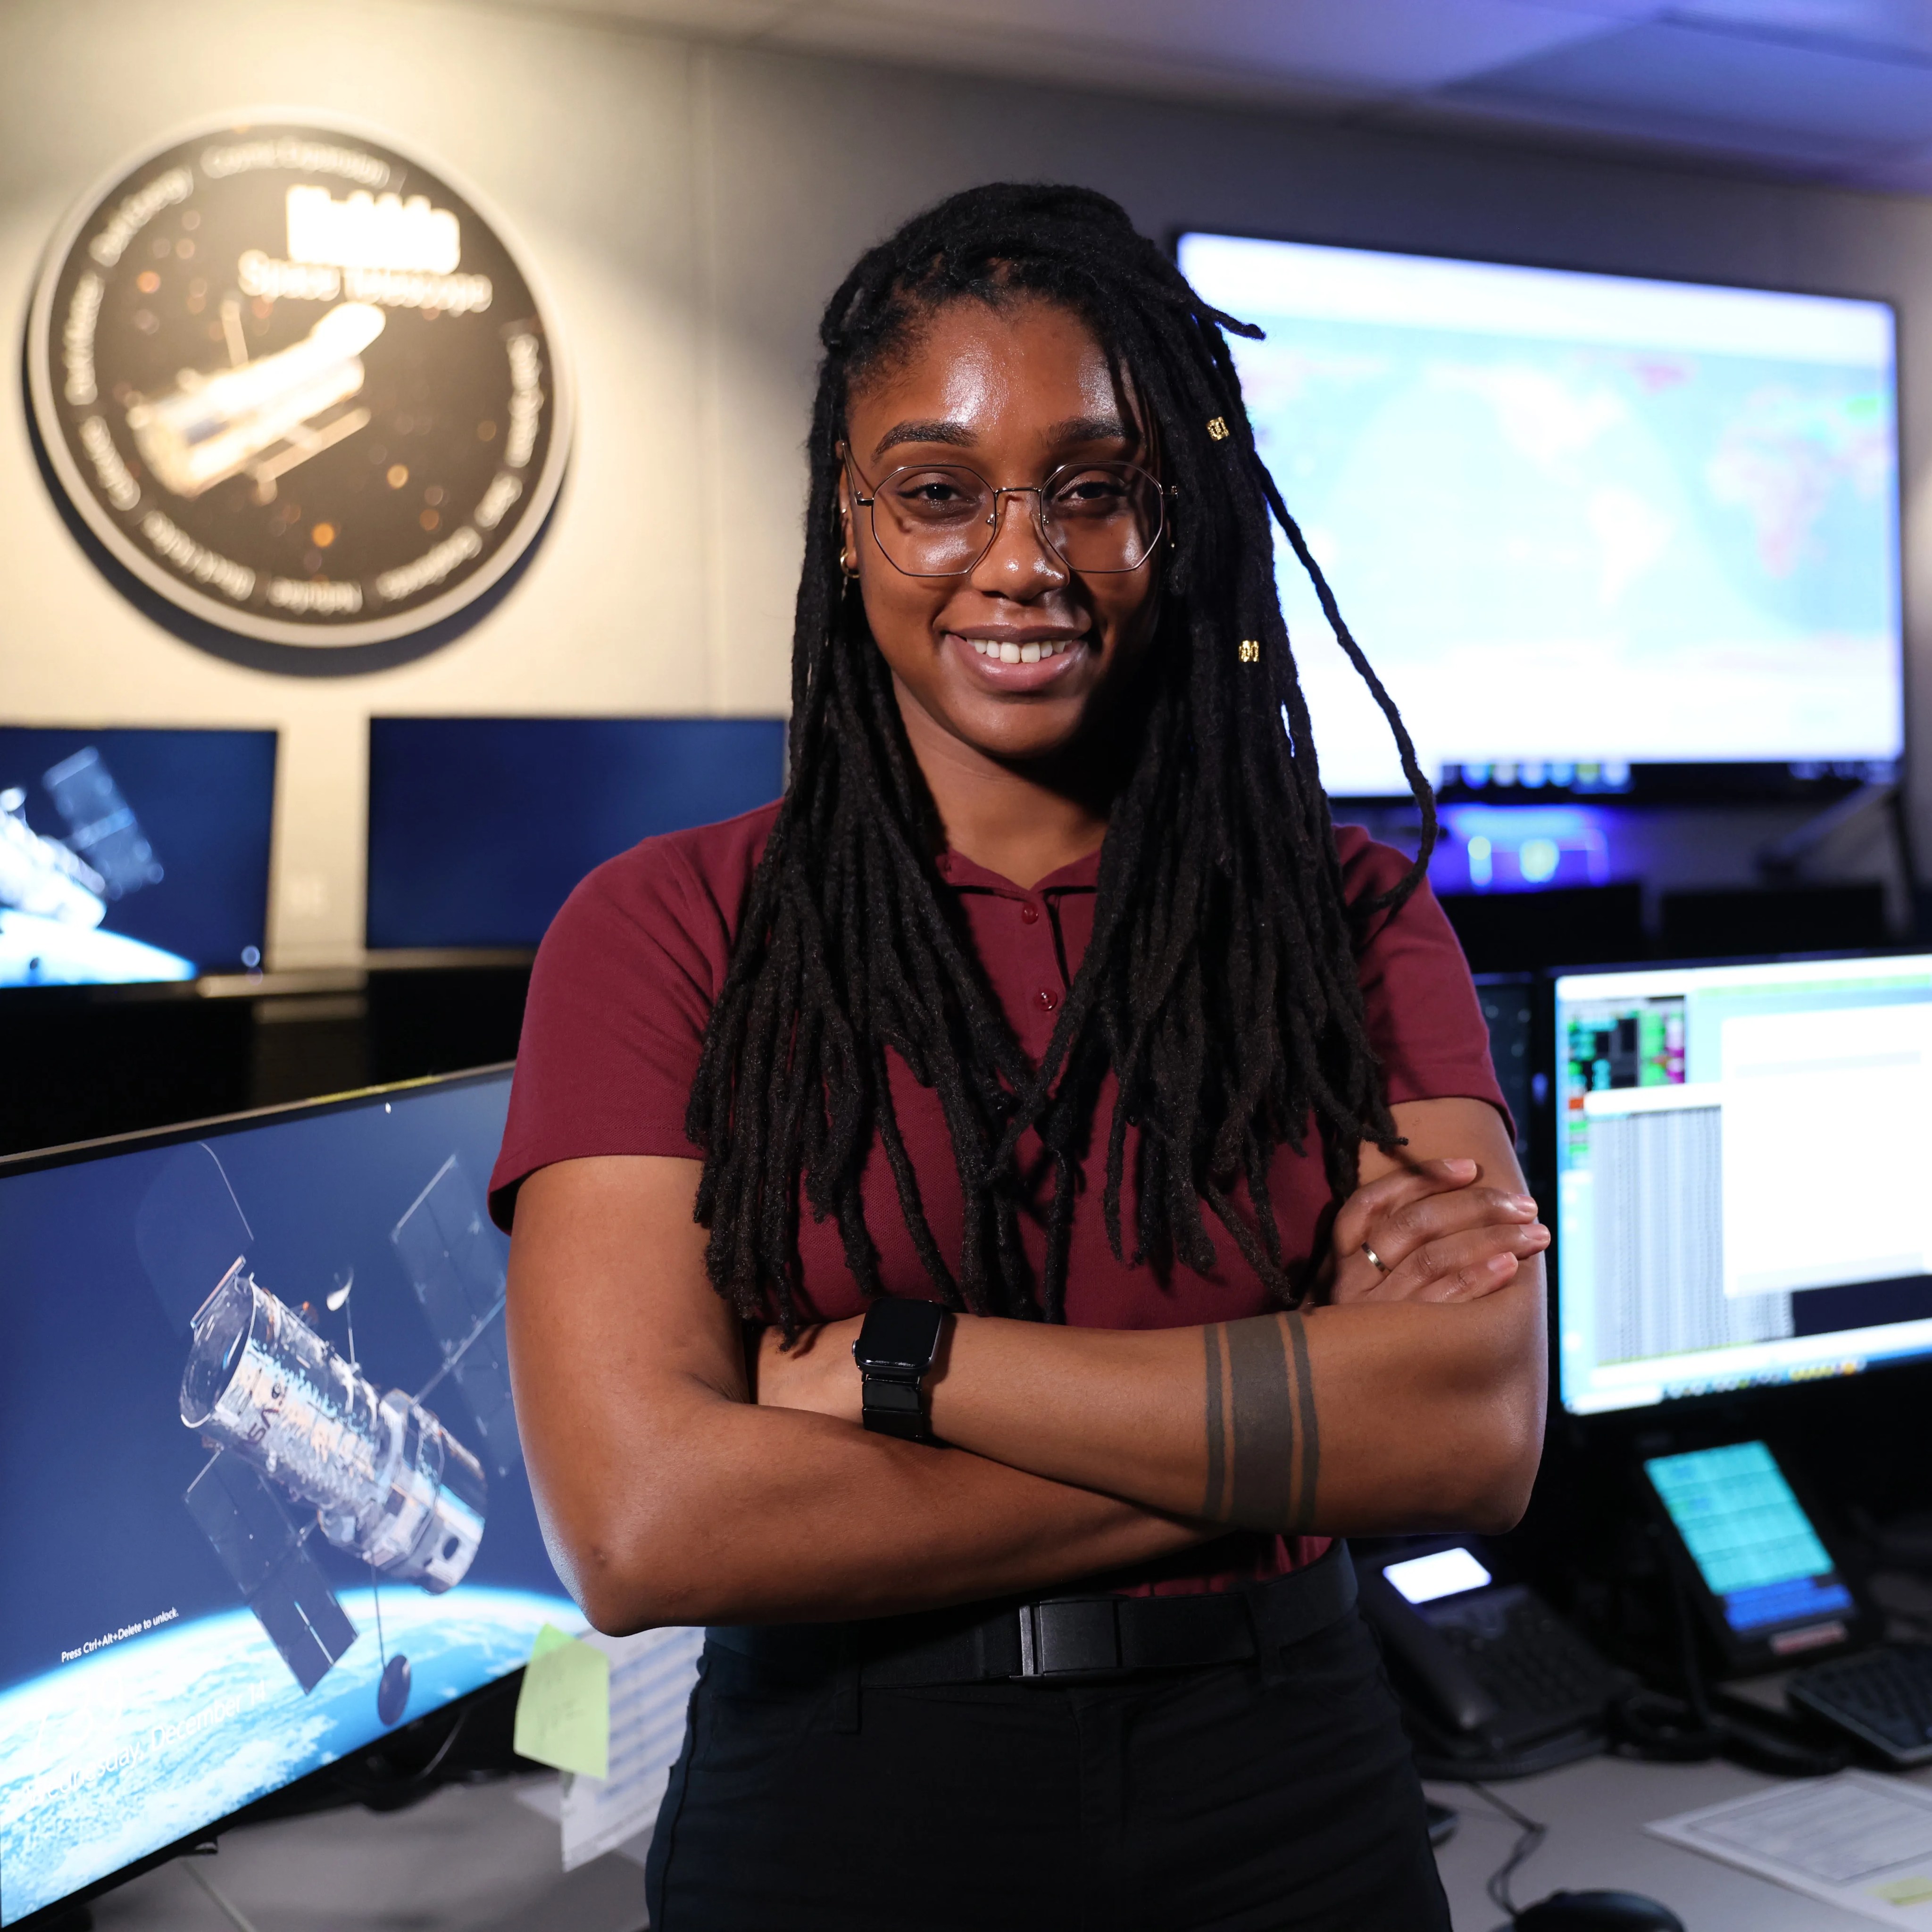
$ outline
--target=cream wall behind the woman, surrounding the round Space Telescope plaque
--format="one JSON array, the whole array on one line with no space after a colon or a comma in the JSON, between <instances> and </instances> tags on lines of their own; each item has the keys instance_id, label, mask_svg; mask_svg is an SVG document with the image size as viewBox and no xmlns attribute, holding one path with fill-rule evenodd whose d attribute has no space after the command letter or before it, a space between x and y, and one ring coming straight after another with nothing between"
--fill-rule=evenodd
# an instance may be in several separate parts
<instances>
[{"instance_id":1,"label":"cream wall behind the woman, surrounding the round Space Telescope plaque","mask_svg":"<svg viewBox=\"0 0 1932 1932\"><path fill-rule=\"evenodd\" d=\"M1915 487L1932 379L1913 381L1932 367L1926 201L686 46L468 0L10 0L4 338L19 344L43 242L97 174L180 122L261 104L363 116L475 180L554 288L580 400L558 514L502 605L396 670L280 678L178 641L97 576L35 469L17 381L0 383L0 719L278 726L278 966L357 956L371 711L784 707L819 305L896 218L991 176L1088 182L1153 234L1889 296L1909 611L1932 616L1932 489ZM1917 688L1928 742L1932 674ZM1932 833L1932 788L1918 808Z\"/></svg>"}]
</instances>

